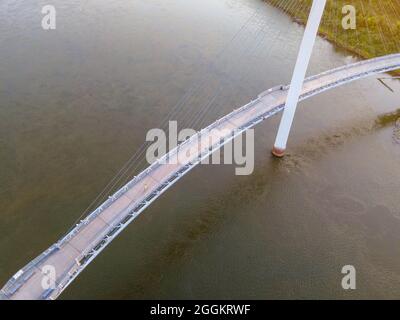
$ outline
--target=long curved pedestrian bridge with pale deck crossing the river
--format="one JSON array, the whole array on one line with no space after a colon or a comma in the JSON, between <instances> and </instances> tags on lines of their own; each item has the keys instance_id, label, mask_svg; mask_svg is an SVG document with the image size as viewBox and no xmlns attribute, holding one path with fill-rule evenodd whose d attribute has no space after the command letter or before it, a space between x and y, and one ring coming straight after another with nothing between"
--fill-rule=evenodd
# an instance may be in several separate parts
<instances>
[{"instance_id":1,"label":"long curved pedestrian bridge with pale deck crossing the river","mask_svg":"<svg viewBox=\"0 0 400 320\"><path fill-rule=\"evenodd\" d=\"M400 54L329 70L307 78L300 99L397 69L400 69ZM57 298L130 222L182 176L237 135L282 111L288 88L278 86L261 93L249 104L215 121L154 162L18 271L1 289L0 299ZM177 164L165 161L173 156L185 160ZM50 288L44 275L48 266L55 271L55 286Z\"/></svg>"}]
</instances>

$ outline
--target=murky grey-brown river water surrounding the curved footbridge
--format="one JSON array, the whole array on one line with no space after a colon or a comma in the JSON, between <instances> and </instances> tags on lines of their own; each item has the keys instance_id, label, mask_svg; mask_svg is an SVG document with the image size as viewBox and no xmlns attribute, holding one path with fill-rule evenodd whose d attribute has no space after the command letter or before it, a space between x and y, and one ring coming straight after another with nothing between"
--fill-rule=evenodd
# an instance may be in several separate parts
<instances>
[{"instance_id":1,"label":"murky grey-brown river water surrounding the curved footbridge","mask_svg":"<svg viewBox=\"0 0 400 320\"><path fill-rule=\"evenodd\" d=\"M54 0L54 31L45 4L0 4L0 283L197 83L184 110L218 100L199 126L288 83L303 32L259 0ZM355 60L318 39L309 74ZM387 83L301 103L283 160L270 156L279 117L260 124L252 175L196 168L61 298L399 298L400 85ZM341 288L344 265L357 290Z\"/></svg>"}]
</instances>

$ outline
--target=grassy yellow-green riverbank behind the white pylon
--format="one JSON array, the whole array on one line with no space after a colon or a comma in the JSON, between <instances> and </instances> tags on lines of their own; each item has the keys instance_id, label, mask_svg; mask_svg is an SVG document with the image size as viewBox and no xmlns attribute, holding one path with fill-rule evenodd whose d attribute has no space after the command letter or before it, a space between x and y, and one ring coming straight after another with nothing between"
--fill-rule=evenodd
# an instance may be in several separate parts
<instances>
[{"instance_id":1,"label":"grassy yellow-green riverbank behind the white pylon","mask_svg":"<svg viewBox=\"0 0 400 320\"><path fill-rule=\"evenodd\" d=\"M292 5L294 1L299 5ZM305 24L312 0L266 0ZM351 4L357 12L357 28L342 28L342 8ZM319 33L336 45L365 59L400 52L400 3L395 1L328 0ZM400 71L397 71L400 74Z\"/></svg>"}]
</instances>

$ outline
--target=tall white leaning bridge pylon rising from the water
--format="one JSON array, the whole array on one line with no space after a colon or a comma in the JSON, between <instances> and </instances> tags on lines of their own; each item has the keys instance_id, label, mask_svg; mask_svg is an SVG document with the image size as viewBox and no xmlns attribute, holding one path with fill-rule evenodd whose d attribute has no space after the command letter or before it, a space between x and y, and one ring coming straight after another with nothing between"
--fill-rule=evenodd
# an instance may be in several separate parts
<instances>
[{"instance_id":1,"label":"tall white leaning bridge pylon rising from the water","mask_svg":"<svg viewBox=\"0 0 400 320\"><path fill-rule=\"evenodd\" d=\"M275 144L272 149L272 154L276 157L283 157L285 154L290 128L293 124L294 115L296 113L297 104L299 103L301 90L303 88L307 68L310 63L311 54L317 38L318 28L321 24L325 6L326 0L313 0L306 29L304 31L303 40L297 56L296 66L294 68L292 82L290 84L286 99L285 109L279 124Z\"/></svg>"}]
</instances>

